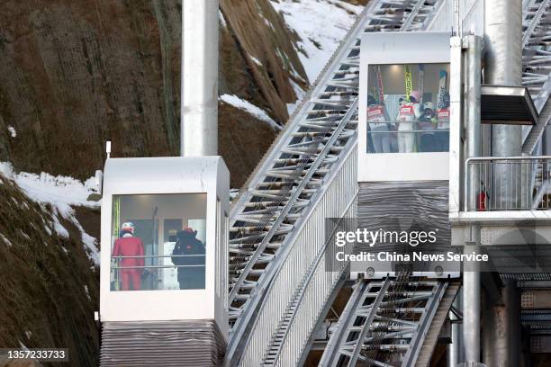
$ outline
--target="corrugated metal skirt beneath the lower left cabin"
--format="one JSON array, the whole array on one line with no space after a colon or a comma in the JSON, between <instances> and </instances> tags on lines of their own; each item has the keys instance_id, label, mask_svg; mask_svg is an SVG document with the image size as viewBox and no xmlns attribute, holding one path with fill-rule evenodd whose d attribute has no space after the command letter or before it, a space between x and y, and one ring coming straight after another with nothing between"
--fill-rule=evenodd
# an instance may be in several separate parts
<instances>
[{"instance_id":1,"label":"corrugated metal skirt beneath the lower left cabin","mask_svg":"<svg viewBox=\"0 0 551 367\"><path fill-rule=\"evenodd\" d=\"M104 322L100 365L218 366L225 350L212 320Z\"/></svg>"}]
</instances>

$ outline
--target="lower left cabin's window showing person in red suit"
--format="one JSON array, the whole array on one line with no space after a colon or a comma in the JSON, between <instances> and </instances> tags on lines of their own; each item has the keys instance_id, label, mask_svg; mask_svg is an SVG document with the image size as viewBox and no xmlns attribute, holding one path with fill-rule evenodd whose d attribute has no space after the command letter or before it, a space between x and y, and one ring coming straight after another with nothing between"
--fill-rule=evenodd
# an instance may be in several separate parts
<instances>
[{"instance_id":1,"label":"lower left cabin's window showing person in red suit","mask_svg":"<svg viewBox=\"0 0 551 367\"><path fill-rule=\"evenodd\" d=\"M204 289L206 194L113 196L111 290Z\"/></svg>"}]
</instances>

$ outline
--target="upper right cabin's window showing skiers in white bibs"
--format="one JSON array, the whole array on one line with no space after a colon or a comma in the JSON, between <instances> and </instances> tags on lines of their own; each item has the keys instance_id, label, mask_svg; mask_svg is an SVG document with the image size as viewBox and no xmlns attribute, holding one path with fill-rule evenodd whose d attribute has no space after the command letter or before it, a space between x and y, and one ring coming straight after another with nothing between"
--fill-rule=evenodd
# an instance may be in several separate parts
<instances>
[{"instance_id":1,"label":"upper right cabin's window showing skiers in white bibs","mask_svg":"<svg viewBox=\"0 0 551 367\"><path fill-rule=\"evenodd\" d=\"M367 153L449 151L449 64L370 65Z\"/></svg>"}]
</instances>

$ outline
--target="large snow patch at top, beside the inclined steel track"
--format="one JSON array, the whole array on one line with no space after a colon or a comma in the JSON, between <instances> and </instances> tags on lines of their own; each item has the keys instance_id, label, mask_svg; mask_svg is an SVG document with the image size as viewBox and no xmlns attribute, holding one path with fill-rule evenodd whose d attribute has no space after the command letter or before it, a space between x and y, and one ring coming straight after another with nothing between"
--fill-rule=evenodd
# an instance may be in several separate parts
<instances>
[{"instance_id":1,"label":"large snow patch at top, beside the inclined steel track","mask_svg":"<svg viewBox=\"0 0 551 367\"><path fill-rule=\"evenodd\" d=\"M271 0L271 3L283 14L289 29L302 39L297 51L311 84L364 9L340 0Z\"/></svg>"}]
</instances>

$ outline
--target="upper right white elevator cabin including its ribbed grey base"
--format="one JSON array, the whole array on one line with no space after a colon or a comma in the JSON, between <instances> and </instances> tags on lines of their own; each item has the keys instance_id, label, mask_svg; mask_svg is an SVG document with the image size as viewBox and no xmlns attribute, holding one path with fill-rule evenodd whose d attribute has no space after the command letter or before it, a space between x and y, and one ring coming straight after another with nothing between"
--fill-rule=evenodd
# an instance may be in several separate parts
<instances>
[{"instance_id":1,"label":"upper right white elevator cabin including its ribbed grey base","mask_svg":"<svg viewBox=\"0 0 551 367\"><path fill-rule=\"evenodd\" d=\"M375 261L352 264L352 277L383 277L397 273L397 266L458 276L457 264L439 259L376 258L381 252L410 259L413 252L437 255L450 246L450 36L374 32L362 38L357 226L387 236L374 246L357 244L357 252L375 253Z\"/></svg>"}]
</instances>

